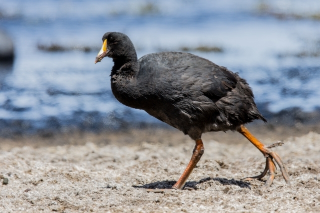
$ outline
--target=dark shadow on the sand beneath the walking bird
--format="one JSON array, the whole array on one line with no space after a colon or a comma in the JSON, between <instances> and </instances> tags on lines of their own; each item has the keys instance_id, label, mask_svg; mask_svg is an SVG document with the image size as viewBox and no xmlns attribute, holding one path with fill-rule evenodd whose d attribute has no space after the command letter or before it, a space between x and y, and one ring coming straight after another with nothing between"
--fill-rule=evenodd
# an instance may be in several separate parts
<instances>
[{"instance_id":1,"label":"dark shadow on the sand beneath the walking bird","mask_svg":"<svg viewBox=\"0 0 320 213\"><path fill-rule=\"evenodd\" d=\"M238 186L240 188L248 188L251 189L250 187L250 183L248 182L243 182L243 181L236 181L234 179L226 179L226 178L204 178L201 179L200 181L196 182L196 181L188 181L185 183L184 188L191 188L194 190L197 190L197 185L204 183L204 182L209 182L209 181L213 181L213 182L219 182L222 185L234 185L234 186ZM134 188L137 189L171 189L171 187L175 184L176 181L156 181L150 184L145 184L143 186L132 186Z\"/></svg>"}]
</instances>

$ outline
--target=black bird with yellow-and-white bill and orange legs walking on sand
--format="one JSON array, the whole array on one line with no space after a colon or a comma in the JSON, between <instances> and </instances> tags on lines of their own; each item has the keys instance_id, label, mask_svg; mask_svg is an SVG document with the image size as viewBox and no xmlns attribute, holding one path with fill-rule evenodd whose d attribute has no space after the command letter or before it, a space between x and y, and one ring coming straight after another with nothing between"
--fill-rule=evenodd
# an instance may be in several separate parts
<instances>
[{"instance_id":1,"label":"black bird with yellow-and-white bill and orange legs walking on sand","mask_svg":"<svg viewBox=\"0 0 320 213\"><path fill-rule=\"evenodd\" d=\"M267 171L264 187L271 185L275 162L289 184L289 176L281 158L244 127L255 119L266 122L253 101L247 82L223 66L182 52L159 52L137 59L131 40L120 32L107 32L95 63L105 56L113 59L111 89L122 104L146 111L151 116L189 135L195 141L191 160L180 179L172 186L181 189L200 160L204 148L201 134L210 131L238 131L266 158L261 179Z\"/></svg>"}]
</instances>

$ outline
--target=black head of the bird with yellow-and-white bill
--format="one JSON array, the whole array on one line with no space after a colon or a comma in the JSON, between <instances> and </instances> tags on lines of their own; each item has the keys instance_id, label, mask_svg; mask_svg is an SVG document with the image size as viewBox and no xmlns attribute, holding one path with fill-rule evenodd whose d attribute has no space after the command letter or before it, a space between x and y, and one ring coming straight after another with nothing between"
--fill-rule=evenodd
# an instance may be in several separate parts
<instances>
[{"instance_id":1,"label":"black head of the bird with yellow-and-white bill","mask_svg":"<svg viewBox=\"0 0 320 213\"><path fill-rule=\"evenodd\" d=\"M102 36L102 47L95 57L94 63L100 62L105 56L113 59L128 58L136 55L129 37L120 32L106 32Z\"/></svg>"}]
</instances>

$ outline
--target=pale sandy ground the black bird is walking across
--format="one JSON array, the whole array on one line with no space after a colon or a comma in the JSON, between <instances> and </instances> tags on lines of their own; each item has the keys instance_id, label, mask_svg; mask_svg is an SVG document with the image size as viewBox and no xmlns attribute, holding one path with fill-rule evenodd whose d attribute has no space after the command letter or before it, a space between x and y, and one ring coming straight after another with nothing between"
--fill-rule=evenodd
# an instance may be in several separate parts
<instances>
[{"instance_id":1,"label":"pale sandy ground the black bird is walking across","mask_svg":"<svg viewBox=\"0 0 320 213\"><path fill-rule=\"evenodd\" d=\"M238 133L203 135L204 155L186 186L170 188L185 169L194 142L172 130L74 134L0 143L0 213L9 212L320 212L320 135L267 127L255 133L285 163L271 187L242 182L265 159ZM299 134L298 134L299 133Z\"/></svg>"}]
</instances>

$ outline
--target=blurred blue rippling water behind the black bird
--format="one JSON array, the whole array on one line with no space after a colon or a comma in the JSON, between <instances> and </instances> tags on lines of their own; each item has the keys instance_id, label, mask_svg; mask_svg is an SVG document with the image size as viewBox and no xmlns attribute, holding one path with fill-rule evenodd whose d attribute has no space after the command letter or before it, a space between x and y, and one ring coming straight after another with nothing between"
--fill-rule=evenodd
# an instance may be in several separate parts
<instances>
[{"instance_id":1,"label":"blurred blue rippling water behind the black bird","mask_svg":"<svg viewBox=\"0 0 320 213\"><path fill-rule=\"evenodd\" d=\"M94 65L107 31L138 57L187 51L238 72L267 118L320 107L319 0L0 0L0 30L15 56L0 62L2 136L161 125L116 101L111 59Z\"/></svg>"}]
</instances>

